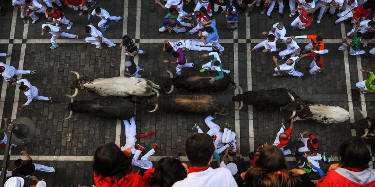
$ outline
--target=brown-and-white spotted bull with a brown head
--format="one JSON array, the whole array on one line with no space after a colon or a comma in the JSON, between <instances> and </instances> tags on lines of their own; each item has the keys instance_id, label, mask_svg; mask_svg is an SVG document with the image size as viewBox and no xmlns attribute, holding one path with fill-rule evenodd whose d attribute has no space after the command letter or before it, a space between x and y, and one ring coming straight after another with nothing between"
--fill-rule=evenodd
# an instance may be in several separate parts
<instances>
[{"instance_id":1,"label":"brown-and-white spotted bull with a brown head","mask_svg":"<svg viewBox=\"0 0 375 187\"><path fill-rule=\"evenodd\" d=\"M300 105L299 101L294 99L294 96L288 92L292 99L287 105L280 107L280 111L293 111L290 119L296 117L297 120L313 119L321 123L342 123L346 122L350 114L344 108L329 105L314 105L304 104ZM286 119L283 120L285 122Z\"/></svg>"}]
</instances>

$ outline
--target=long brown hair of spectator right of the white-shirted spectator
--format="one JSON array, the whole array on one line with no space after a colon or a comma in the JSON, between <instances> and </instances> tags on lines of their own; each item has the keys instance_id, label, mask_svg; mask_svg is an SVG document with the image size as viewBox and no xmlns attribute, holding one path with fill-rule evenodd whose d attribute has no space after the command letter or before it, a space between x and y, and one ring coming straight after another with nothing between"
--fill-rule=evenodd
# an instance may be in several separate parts
<instances>
[{"instance_id":1,"label":"long brown hair of spectator right of the white-shirted spectator","mask_svg":"<svg viewBox=\"0 0 375 187\"><path fill-rule=\"evenodd\" d=\"M275 174L280 171L281 174ZM255 162L255 167L248 169L245 173L245 181L249 186L262 184L263 187L291 187L296 183L296 178L289 176L287 161L284 153L276 146L265 146Z\"/></svg>"}]
</instances>

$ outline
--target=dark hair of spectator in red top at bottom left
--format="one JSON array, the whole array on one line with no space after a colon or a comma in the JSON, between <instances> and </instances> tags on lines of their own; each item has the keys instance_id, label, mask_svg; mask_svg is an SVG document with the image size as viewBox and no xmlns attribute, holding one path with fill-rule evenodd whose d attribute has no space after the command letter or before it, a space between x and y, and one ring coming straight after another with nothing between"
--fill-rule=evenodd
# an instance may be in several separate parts
<instances>
[{"instance_id":1,"label":"dark hair of spectator in red top at bottom left","mask_svg":"<svg viewBox=\"0 0 375 187\"><path fill-rule=\"evenodd\" d=\"M101 180L105 177L122 178L132 171L132 157L126 156L114 143L97 148L94 155L93 170Z\"/></svg>"}]
</instances>

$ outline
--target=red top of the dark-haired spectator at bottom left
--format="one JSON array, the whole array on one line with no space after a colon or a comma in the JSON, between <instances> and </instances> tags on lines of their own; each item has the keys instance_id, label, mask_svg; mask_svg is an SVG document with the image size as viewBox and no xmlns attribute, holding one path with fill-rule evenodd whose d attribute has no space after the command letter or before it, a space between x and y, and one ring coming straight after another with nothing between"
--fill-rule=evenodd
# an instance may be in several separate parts
<instances>
[{"instance_id":1,"label":"red top of the dark-haired spectator at bottom left","mask_svg":"<svg viewBox=\"0 0 375 187\"><path fill-rule=\"evenodd\" d=\"M100 175L94 173L94 181L97 187L149 187L141 175L133 171L123 178L105 177L101 181Z\"/></svg>"}]
</instances>

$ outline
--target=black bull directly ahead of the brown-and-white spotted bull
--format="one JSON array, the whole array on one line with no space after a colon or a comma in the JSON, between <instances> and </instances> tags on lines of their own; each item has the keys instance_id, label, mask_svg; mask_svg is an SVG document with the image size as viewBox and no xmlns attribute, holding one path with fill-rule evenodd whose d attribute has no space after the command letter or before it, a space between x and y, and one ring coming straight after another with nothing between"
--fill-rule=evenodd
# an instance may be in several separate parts
<instances>
[{"instance_id":1,"label":"black bull directly ahead of the brown-and-white spotted bull","mask_svg":"<svg viewBox=\"0 0 375 187\"><path fill-rule=\"evenodd\" d=\"M259 91L248 91L244 93L240 86L235 87L237 87L240 92L240 94L232 97L232 101L240 102L240 106L236 110L241 110L243 103L253 105L256 110L265 110L266 108L279 109L292 101L288 93L303 101L297 93L286 88L261 89ZM306 103L308 101L303 102Z\"/></svg>"}]
</instances>

